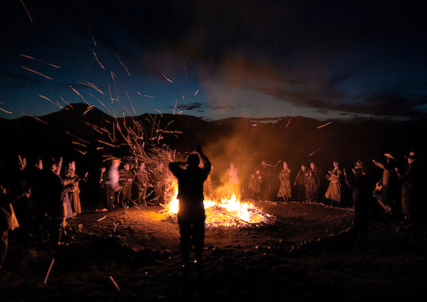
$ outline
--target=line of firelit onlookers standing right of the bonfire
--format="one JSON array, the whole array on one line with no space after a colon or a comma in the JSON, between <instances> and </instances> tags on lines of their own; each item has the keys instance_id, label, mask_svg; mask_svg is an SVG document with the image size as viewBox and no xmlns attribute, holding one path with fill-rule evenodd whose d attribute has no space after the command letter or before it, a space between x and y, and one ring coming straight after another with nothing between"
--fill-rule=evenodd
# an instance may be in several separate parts
<instances>
[{"instance_id":1,"label":"line of firelit onlookers standing right of the bonfire","mask_svg":"<svg viewBox=\"0 0 427 302\"><path fill-rule=\"evenodd\" d=\"M283 161L283 169L278 175L280 187L276 196L279 201L294 200L309 203L322 201L342 207L345 206L342 201L342 185L347 185L352 191L354 230L364 242L367 240L369 209L375 205L381 206L379 208L384 215L398 217L405 225L411 225L414 216L425 207L422 204L423 175L415 153L411 152L405 156L406 167L402 171L398 168L398 161L390 153L385 153L384 158L384 163L359 160L352 168L344 169L339 167L338 161L333 161L332 169L325 175L329 183L324 194L320 193L322 172L315 162L311 162L308 167L305 164L300 166L292 186L290 181L292 171L288 163ZM255 172L249 176L247 190L241 188L241 192L246 191L246 196L253 200L271 200L273 194L270 192L270 184L274 181L271 177L272 169L270 168L269 173L265 161L259 166L260 168L255 168ZM379 179L372 178L377 172L375 169L382 170ZM233 175L240 174L233 171L238 171L234 163L227 171L230 185L236 185L236 177Z\"/></svg>"}]
</instances>

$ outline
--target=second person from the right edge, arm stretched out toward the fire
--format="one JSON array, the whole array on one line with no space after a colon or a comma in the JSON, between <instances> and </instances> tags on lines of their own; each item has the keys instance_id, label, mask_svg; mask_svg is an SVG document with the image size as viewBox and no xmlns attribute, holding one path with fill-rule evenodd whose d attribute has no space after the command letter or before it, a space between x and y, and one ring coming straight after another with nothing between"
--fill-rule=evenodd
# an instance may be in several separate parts
<instances>
[{"instance_id":1,"label":"second person from the right edge, arm stretched out toward the fire","mask_svg":"<svg viewBox=\"0 0 427 302\"><path fill-rule=\"evenodd\" d=\"M390 153L384 153L386 156L386 163L380 163L375 161L372 162L375 166L381 168L383 170L382 177L380 180L381 194L379 195L379 203L381 204L387 212L396 212L397 203L397 174L394 168L396 168L396 159L391 156Z\"/></svg>"}]
</instances>

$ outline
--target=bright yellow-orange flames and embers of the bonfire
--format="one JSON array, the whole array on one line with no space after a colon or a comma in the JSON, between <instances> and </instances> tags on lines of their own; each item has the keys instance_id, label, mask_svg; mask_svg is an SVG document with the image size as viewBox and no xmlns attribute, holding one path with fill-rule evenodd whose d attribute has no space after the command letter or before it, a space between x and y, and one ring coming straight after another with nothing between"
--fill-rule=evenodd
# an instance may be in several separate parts
<instances>
[{"instance_id":1,"label":"bright yellow-orange flames and embers of the bonfire","mask_svg":"<svg viewBox=\"0 0 427 302\"><path fill-rule=\"evenodd\" d=\"M164 205L163 212L174 216L179 210L177 184L173 185L174 196ZM268 224L273 220L272 215L259 210L252 203L242 202L235 194L231 198L221 198L221 201L204 200L206 212L206 227L250 227Z\"/></svg>"}]
</instances>

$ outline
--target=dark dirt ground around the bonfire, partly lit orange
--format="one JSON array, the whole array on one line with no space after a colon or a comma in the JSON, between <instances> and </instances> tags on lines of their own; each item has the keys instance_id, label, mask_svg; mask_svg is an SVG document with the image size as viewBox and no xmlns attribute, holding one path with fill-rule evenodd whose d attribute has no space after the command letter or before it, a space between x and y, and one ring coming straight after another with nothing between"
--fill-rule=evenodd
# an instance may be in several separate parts
<instances>
[{"instance_id":1,"label":"dark dirt ground around the bonfire, partly lit orange","mask_svg":"<svg viewBox=\"0 0 427 302\"><path fill-rule=\"evenodd\" d=\"M204 274L192 271L190 279L180 270L178 225L158 206L85 212L70 222L73 239L55 249L41 235L24 241L11 234L0 300L421 301L427 295L425 225L373 215L369 244L359 247L349 209L257 206L275 222L206 230Z\"/></svg>"}]
</instances>

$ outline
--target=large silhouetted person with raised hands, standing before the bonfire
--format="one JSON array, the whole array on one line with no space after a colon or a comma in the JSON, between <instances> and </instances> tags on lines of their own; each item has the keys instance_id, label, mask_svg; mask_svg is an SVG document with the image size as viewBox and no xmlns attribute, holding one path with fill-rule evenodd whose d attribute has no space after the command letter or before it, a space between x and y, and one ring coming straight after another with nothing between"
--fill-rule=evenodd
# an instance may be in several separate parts
<instances>
[{"instance_id":1,"label":"large silhouetted person with raised hands, standing before the bonfire","mask_svg":"<svg viewBox=\"0 0 427 302\"><path fill-rule=\"evenodd\" d=\"M203 163L203 167L199 164ZM203 184L211 172L211 162L201 152L201 146L191 152L186 162L169 163L169 170L178 179L178 224L181 243L181 257L184 274L189 274L191 242L196 253L196 269L201 270L204 247L204 194Z\"/></svg>"}]
</instances>

